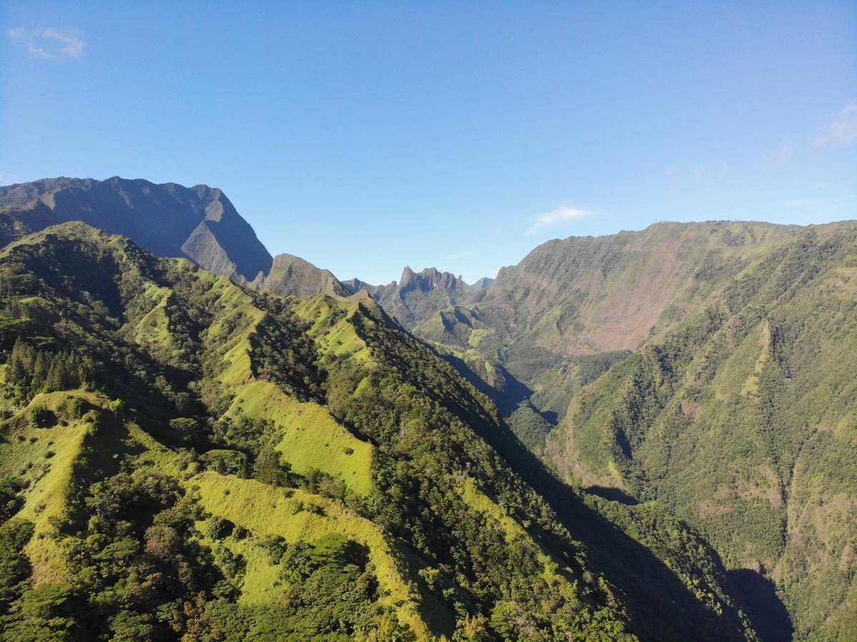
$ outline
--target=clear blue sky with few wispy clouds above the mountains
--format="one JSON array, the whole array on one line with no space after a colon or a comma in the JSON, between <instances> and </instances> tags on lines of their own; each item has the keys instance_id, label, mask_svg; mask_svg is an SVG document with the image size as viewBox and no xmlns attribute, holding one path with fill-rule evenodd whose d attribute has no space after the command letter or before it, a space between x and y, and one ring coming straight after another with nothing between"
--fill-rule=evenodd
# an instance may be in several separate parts
<instances>
[{"instance_id":1,"label":"clear blue sky with few wispy clouds above the mountains","mask_svg":"<svg viewBox=\"0 0 857 642\"><path fill-rule=\"evenodd\" d=\"M0 27L0 184L218 186L340 279L857 215L854 2L5 0Z\"/></svg>"}]
</instances>

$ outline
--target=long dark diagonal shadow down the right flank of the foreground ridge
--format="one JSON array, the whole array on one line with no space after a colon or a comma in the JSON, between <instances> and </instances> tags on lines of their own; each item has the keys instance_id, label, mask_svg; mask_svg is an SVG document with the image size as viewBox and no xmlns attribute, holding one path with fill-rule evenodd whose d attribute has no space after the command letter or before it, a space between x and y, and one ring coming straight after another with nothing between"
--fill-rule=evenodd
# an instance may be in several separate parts
<instances>
[{"instance_id":1,"label":"long dark diagonal shadow down the right flank of the foreground ridge","mask_svg":"<svg viewBox=\"0 0 857 642\"><path fill-rule=\"evenodd\" d=\"M411 346L401 346L415 339L405 334L390 333L382 341L369 333L372 328L368 325L363 327L355 320L351 322L358 336L381 353L383 363L399 369L405 381L424 387L421 379L423 369L412 356L405 357L407 348ZM627 629L630 633L636 634L641 642L746 639L737 609L725 608L719 615L715 610L707 609L679 575L658 559L652 549L638 543L608 519L611 513L633 511L633 507L602 501L562 482L518 440L505 422L494 419L481 400L472 395L470 386L464 385L464 381L452 372L443 373L441 370L438 375L446 377L449 383L446 393L440 393L433 387L426 388L424 392L469 425L476 435L494 448L501 459L506 460L506 464L517 472L524 483L548 502L556 519L566 527L572 540L579 543L580 552L588 558L586 566L614 587L614 595L626 607ZM605 506L599 507L599 503ZM560 559L579 573L580 580L587 584L586 590L595 603L603 604L608 600L596 581L586 582L584 568L576 556L567 555L568 542L553 543L548 533L540 535L538 529L532 526L530 533L540 538L548 549L555 551ZM716 553L711 550L710 555L717 570L725 577L725 570Z\"/></svg>"}]
</instances>

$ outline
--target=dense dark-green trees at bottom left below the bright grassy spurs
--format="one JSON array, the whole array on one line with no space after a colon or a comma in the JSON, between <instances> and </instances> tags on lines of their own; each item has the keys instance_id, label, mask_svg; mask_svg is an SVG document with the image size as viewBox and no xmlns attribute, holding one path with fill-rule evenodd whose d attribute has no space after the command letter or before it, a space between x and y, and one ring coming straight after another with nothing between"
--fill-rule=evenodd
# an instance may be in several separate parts
<instances>
[{"instance_id":1,"label":"dense dark-green trees at bottom left below the bright grassy spurs","mask_svg":"<svg viewBox=\"0 0 857 642\"><path fill-rule=\"evenodd\" d=\"M3 489L9 482L3 480ZM256 537L207 518L177 480L120 472L94 483L87 518L61 531L69 576L35 588L24 547L33 525L0 525L0 628L10 642L83 640L414 639L381 591L368 550L336 534L315 543ZM203 521L205 520L205 521ZM210 524L208 545L198 523ZM280 569L278 601L237 603L246 562L225 545L243 540Z\"/></svg>"}]
</instances>

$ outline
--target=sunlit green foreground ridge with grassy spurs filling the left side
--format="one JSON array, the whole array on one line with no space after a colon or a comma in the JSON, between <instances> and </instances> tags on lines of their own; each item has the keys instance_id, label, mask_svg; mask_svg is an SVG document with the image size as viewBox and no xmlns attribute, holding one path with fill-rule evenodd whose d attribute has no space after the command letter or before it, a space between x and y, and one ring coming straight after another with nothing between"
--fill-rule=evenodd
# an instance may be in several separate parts
<instances>
[{"instance_id":1,"label":"sunlit green foreground ridge with grassy spurs filling the left side","mask_svg":"<svg viewBox=\"0 0 857 642\"><path fill-rule=\"evenodd\" d=\"M0 294L3 640L756 639L697 533L561 483L368 298L82 224Z\"/></svg>"}]
</instances>

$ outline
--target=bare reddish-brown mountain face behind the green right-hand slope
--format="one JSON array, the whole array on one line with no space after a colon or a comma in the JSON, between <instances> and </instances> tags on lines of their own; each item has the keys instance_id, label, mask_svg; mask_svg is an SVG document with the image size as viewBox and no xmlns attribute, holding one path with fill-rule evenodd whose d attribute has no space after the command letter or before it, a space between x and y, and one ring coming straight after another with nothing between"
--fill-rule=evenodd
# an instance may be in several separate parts
<instances>
[{"instance_id":1,"label":"bare reddish-brown mountain face behind the green right-hand slope","mask_svg":"<svg viewBox=\"0 0 857 642\"><path fill-rule=\"evenodd\" d=\"M504 267L480 307L512 340L561 354L633 350L797 226L663 223L544 243Z\"/></svg>"}]
</instances>

